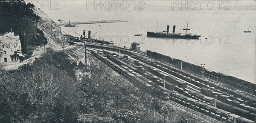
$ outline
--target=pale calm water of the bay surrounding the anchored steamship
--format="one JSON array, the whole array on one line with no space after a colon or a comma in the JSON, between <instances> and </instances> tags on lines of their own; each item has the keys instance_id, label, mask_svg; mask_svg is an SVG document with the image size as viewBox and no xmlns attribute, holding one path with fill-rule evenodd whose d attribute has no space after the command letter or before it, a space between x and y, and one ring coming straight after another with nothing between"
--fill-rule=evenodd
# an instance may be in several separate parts
<instances>
[{"instance_id":1,"label":"pale calm water of the bay surrounding the anchored steamship","mask_svg":"<svg viewBox=\"0 0 256 123\"><path fill-rule=\"evenodd\" d=\"M113 40L115 36L122 38L121 46L130 47L134 41L140 43L141 50L147 49L160 52L190 63L200 65L205 63L206 69L229 74L243 80L256 83L256 12L253 10L182 10L168 11L163 8L159 11L161 1L145 2L145 10L133 10L132 1L129 1L130 9L102 10L86 9L86 1L59 1L57 8L48 8L47 1L44 1L45 11L55 22L58 19L67 22L96 21L96 20L123 20L127 23L101 23L77 25L76 27L61 26L61 30L67 34L78 37L83 30L91 31L95 38L99 38L99 25L101 35L105 40ZM241 4L233 2L230 6ZM168 2L167 2L168 3ZM159 5L159 6L158 6ZM216 4L217 5L217 4ZM215 5L215 6L216 6ZM254 2L255 5L255 2ZM72 6L72 7L70 7ZM153 6L153 7L152 7ZM157 7L154 7L157 6ZM168 6L167 6L168 8ZM182 32L189 20L189 33L205 35L200 40L173 40L146 37L147 31L156 31L158 19L158 30L166 30L166 26L176 25L176 32ZM254 30L252 33L244 33L244 30ZM75 34L76 33L78 34ZM134 37L134 34L143 34L142 37ZM126 38L128 37L128 39ZM205 39L207 37L207 40ZM212 38L214 40L212 41ZM221 42L220 42L221 40ZM188 41L188 43L186 43ZM207 43L208 42L208 43ZM211 43L212 42L212 43ZM225 43L224 43L225 42ZM186 53L186 59L185 54Z\"/></svg>"}]
</instances>

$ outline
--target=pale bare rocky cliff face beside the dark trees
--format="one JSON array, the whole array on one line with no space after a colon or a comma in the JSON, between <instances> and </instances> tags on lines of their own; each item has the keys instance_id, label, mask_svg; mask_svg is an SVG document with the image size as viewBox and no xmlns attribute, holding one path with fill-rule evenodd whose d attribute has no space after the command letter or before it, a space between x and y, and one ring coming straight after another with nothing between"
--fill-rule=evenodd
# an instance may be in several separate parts
<instances>
[{"instance_id":1,"label":"pale bare rocky cliff face beside the dark trees","mask_svg":"<svg viewBox=\"0 0 256 123\"><path fill-rule=\"evenodd\" d=\"M66 42L64 36L61 33L61 28L55 23L44 11L39 8L34 8L33 11L37 14L40 19L39 23L37 23L38 29L44 32L44 36L47 38L47 45L45 49L51 48L54 51L69 46ZM38 47L33 52L33 55L42 54L44 52L44 47Z\"/></svg>"}]
</instances>

